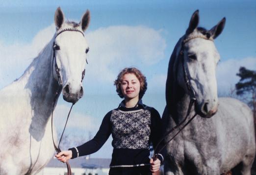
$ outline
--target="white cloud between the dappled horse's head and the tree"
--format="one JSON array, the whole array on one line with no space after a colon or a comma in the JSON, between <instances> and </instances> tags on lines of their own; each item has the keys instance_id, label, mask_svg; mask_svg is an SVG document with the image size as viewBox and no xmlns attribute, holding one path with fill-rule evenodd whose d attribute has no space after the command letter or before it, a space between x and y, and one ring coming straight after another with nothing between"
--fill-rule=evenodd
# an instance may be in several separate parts
<instances>
[{"instance_id":1,"label":"white cloud between the dappled horse's head and the tree","mask_svg":"<svg viewBox=\"0 0 256 175\"><path fill-rule=\"evenodd\" d=\"M216 77L218 90L221 94L229 94L230 89L234 88L235 83L239 81L239 77L236 74L239 72L241 66L255 70L256 57L247 57L239 60L229 59L219 63L216 70Z\"/></svg>"}]
</instances>

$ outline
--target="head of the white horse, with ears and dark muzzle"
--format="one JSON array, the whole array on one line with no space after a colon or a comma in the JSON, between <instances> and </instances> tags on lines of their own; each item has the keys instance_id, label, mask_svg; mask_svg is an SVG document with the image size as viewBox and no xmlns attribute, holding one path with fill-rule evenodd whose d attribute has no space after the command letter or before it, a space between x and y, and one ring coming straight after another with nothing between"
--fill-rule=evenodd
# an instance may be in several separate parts
<instances>
[{"instance_id":1,"label":"head of the white horse, with ears and dark muzzle","mask_svg":"<svg viewBox=\"0 0 256 175\"><path fill-rule=\"evenodd\" d=\"M54 22L53 76L62 87L63 99L76 103L83 96L82 80L89 51L83 32L89 25L90 12L86 11L79 24L64 22L64 14L59 7L55 11Z\"/></svg>"}]
</instances>

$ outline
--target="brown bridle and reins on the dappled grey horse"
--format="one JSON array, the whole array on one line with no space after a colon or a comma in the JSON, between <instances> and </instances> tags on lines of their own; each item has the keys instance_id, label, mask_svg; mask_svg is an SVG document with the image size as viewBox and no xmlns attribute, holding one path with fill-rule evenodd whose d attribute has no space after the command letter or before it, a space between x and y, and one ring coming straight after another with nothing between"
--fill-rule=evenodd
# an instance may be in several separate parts
<instances>
[{"instance_id":1,"label":"brown bridle and reins on the dappled grey horse","mask_svg":"<svg viewBox=\"0 0 256 175\"><path fill-rule=\"evenodd\" d=\"M182 131L182 129L184 129L184 127L186 127L196 116L197 116L197 112L195 111L195 114L193 115L193 117L191 119L189 119L187 121L187 123L185 123L185 121L187 120L190 112L191 112L191 108L194 104L194 102L196 102L196 92L193 90L191 84L190 84L190 79L188 78L188 74L187 74L187 71L186 71L186 68L185 68L185 64L184 64L184 51L183 51L183 48L184 48L184 44L187 43L188 41L192 40L192 39L195 39L195 38L203 38L203 39L206 39L206 40L210 40L210 41L213 41L213 39L211 37L206 37L205 35L198 35L198 36L193 36L193 37L188 37L188 38L185 38L183 39L183 41L181 42L181 49L180 49L180 52L179 52L179 59L181 59L181 63L182 63L182 69L183 69L183 78L184 78L184 81L185 81L185 84L186 84L186 87L187 87L187 90L188 90L188 96L189 96L189 105L188 105L188 109L187 109L187 114L186 114L186 117L176 126L174 126L172 129L170 129L168 132L166 132L166 134L160 139L160 141L157 143L155 149L154 149L154 154L153 154L153 159L156 160L157 158L157 153L161 152L161 150L163 150L169 142L171 142L178 134L179 132ZM185 123L185 125L183 125L179 131L170 139L168 140L167 142L165 142L165 144L161 147L161 149L157 150L157 148L160 146L160 144L162 143L162 141L170 134L172 133L175 129L177 129L179 126L181 126L183 123ZM157 151L157 152L156 152Z\"/></svg>"}]
</instances>

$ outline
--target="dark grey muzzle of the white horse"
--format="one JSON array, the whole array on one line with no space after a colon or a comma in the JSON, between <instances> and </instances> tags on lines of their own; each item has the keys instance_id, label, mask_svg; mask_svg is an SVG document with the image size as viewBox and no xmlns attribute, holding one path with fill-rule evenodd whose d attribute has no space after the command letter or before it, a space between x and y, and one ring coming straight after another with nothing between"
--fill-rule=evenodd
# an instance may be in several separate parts
<instances>
[{"instance_id":1,"label":"dark grey muzzle of the white horse","mask_svg":"<svg viewBox=\"0 0 256 175\"><path fill-rule=\"evenodd\" d=\"M83 96L83 87L81 86L77 92L72 93L69 84L67 84L62 90L62 94L65 101L76 103Z\"/></svg>"}]
</instances>

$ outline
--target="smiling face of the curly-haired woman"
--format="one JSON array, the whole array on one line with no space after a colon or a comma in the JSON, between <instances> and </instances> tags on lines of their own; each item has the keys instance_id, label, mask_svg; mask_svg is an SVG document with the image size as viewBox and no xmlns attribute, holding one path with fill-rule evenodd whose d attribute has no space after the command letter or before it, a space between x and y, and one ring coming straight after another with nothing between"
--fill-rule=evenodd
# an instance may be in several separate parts
<instances>
[{"instance_id":1,"label":"smiling face of the curly-haired woman","mask_svg":"<svg viewBox=\"0 0 256 175\"><path fill-rule=\"evenodd\" d=\"M125 99L139 98L140 81L134 74L125 74L121 79L121 91Z\"/></svg>"}]
</instances>

